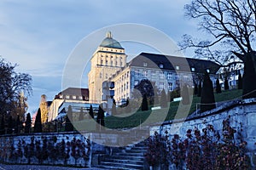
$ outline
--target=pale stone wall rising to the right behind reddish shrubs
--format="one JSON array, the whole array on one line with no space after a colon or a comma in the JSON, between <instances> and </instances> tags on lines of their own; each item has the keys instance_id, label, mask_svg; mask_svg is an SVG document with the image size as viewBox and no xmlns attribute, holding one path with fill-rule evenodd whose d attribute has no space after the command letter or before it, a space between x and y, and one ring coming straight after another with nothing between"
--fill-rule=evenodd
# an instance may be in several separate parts
<instances>
[{"instance_id":1,"label":"pale stone wall rising to the right behind reddish shrubs","mask_svg":"<svg viewBox=\"0 0 256 170\"><path fill-rule=\"evenodd\" d=\"M207 124L211 124L222 136L223 121L228 117L230 126L240 132L242 139L247 142L247 155L250 156L253 167L256 167L256 99L234 100L219 105L212 111L189 116L187 119L165 122L161 126L155 125L150 127L150 134L158 132L164 135L167 131L171 137L178 134L184 139L188 129L197 127L201 130Z\"/></svg>"}]
</instances>

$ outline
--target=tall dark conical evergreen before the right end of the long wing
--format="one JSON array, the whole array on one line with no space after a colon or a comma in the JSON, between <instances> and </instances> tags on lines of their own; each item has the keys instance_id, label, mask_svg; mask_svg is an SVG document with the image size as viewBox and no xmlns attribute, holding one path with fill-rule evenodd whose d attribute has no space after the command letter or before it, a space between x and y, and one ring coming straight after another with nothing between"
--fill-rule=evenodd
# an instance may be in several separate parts
<instances>
[{"instance_id":1,"label":"tall dark conical evergreen before the right end of the long wing","mask_svg":"<svg viewBox=\"0 0 256 170\"><path fill-rule=\"evenodd\" d=\"M206 72L201 89L201 112L210 111L216 107L213 94L212 80Z\"/></svg>"}]
</instances>

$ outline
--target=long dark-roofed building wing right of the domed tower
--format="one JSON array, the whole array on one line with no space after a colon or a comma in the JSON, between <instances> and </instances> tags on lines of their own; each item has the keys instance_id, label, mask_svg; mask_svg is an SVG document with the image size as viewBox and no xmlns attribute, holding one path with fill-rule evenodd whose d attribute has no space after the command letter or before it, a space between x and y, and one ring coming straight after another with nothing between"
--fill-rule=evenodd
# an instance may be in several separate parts
<instances>
[{"instance_id":1,"label":"long dark-roofed building wing right of the domed tower","mask_svg":"<svg viewBox=\"0 0 256 170\"><path fill-rule=\"evenodd\" d=\"M182 87L183 84L193 87L201 81L205 71L215 83L219 67L218 64L204 59L142 53L111 78L115 85L114 99L131 99L133 88L143 79L154 82L159 91L165 89L166 92Z\"/></svg>"}]
</instances>

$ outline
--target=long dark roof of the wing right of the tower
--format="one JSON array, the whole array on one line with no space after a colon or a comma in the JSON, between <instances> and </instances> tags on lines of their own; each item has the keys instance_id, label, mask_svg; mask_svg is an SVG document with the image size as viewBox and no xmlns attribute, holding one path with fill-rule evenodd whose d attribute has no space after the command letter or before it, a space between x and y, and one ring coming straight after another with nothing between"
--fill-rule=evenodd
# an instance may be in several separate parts
<instances>
[{"instance_id":1,"label":"long dark roof of the wing right of the tower","mask_svg":"<svg viewBox=\"0 0 256 170\"><path fill-rule=\"evenodd\" d=\"M144 63L147 63L147 66L145 66ZM209 69L210 74L215 74L220 68L220 65L218 65L217 63L206 59L192 59L149 53L142 53L137 55L137 57L131 59L129 65L171 71L176 71L176 66L179 67L178 71L191 71L192 68L195 68L195 72L204 72ZM162 65L163 68L160 68L160 65Z\"/></svg>"}]
</instances>

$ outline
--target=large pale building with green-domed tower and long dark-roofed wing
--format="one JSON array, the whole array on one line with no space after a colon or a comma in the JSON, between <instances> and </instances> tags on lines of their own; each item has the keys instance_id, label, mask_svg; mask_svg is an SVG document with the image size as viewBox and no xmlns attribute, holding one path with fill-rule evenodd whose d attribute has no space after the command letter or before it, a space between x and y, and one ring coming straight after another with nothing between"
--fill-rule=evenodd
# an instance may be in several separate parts
<instances>
[{"instance_id":1,"label":"large pale building with green-domed tower and long dark-roofed wing","mask_svg":"<svg viewBox=\"0 0 256 170\"><path fill-rule=\"evenodd\" d=\"M117 102L132 99L134 87L143 79L154 82L159 91L165 89L166 92L183 83L193 87L202 81L205 71L215 83L220 68L220 65L210 60L163 54L142 53L129 63L126 57L125 49L108 32L90 59L90 103L103 103L110 108L113 99Z\"/></svg>"}]
</instances>

